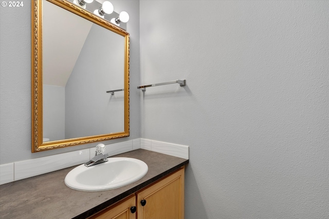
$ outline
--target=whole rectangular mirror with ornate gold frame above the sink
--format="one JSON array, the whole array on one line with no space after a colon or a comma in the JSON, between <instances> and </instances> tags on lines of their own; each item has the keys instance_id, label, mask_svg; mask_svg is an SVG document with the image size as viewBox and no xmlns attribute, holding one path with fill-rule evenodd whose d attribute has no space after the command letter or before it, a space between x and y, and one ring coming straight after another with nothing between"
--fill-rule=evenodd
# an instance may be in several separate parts
<instances>
[{"instance_id":1,"label":"whole rectangular mirror with ornate gold frame above the sink","mask_svg":"<svg viewBox=\"0 0 329 219\"><path fill-rule=\"evenodd\" d=\"M129 33L66 0L31 3L32 152L129 136Z\"/></svg>"}]
</instances>

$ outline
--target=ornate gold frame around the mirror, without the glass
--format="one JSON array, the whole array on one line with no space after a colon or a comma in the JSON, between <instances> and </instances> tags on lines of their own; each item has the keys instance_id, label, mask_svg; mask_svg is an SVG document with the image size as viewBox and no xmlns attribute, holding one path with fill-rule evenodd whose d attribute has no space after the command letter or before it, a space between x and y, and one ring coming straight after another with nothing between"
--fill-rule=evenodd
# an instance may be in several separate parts
<instances>
[{"instance_id":1,"label":"ornate gold frame around the mirror, without the glass","mask_svg":"<svg viewBox=\"0 0 329 219\"><path fill-rule=\"evenodd\" d=\"M42 93L42 2L31 0L31 114L32 152L40 152L100 141L127 137L130 133L129 121L129 33L104 19L65 0L47 0L59 7L75 13L89 21L124 37L124 132L71 138L43 143L43 93Z\"/></svg>"}]
</instances>

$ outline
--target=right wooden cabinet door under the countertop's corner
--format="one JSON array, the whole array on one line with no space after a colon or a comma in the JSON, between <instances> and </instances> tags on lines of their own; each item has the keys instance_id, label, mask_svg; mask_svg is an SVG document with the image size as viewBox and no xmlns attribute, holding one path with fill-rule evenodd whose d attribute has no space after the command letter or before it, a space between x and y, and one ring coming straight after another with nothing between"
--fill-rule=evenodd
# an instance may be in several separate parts
<instances>
[{"instance_id":1,"label":"right wooden cabinet door under the countertop's corner","mask_svg":"<svg viewBox=\"0 0 329 219\"><path fill-rule=\"evenodd\" d=\"M184 219L184 168L137 193L138 219Z\"/></svg>"}]
</instances>

